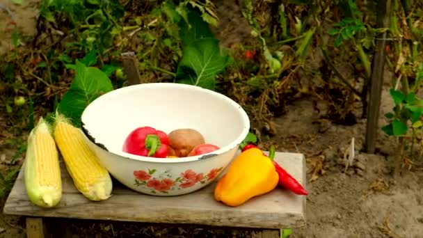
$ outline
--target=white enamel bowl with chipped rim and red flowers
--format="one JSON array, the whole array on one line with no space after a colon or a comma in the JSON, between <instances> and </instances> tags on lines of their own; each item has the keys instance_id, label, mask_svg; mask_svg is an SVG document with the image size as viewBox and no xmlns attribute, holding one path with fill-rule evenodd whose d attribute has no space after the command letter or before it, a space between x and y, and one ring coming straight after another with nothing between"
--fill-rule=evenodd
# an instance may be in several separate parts
<instances>
[{"instance_id":1,"label":"white enamel bowl with chipped rim and red flowers","mask_svg":"<svg viewBox=\"0 0 423 238\"><path fill-rule=\"evenodd\" d=\"M106 93L83 111L82 129L99 162L116 180L154 196L191 193L213 182L234 159L250 129L244 109L229 97L186 84L152 83ZM141 157L122 152L126 136L150 126L169 133L197 129L221 149L185 158Z\"/></svg>"}]
</instances>

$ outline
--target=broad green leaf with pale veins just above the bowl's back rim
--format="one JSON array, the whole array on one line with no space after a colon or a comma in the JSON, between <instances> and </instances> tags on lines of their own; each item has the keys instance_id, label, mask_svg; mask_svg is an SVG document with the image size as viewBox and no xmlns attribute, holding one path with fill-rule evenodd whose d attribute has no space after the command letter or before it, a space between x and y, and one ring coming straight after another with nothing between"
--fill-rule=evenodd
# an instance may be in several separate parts
<instances>
[{"instance_id":1,"label":"broad green leaf with pale veins just above the bowl's back rim","mask_svg":"<svg viewBox=\"0 0 423 238\"><path fill-rule=\"evenodd\" d=\"M231 58L221 52L218 40L202 38L184 47L175 81L214 90L216 74L229 65Z\"/></svg>"}]
</instances>

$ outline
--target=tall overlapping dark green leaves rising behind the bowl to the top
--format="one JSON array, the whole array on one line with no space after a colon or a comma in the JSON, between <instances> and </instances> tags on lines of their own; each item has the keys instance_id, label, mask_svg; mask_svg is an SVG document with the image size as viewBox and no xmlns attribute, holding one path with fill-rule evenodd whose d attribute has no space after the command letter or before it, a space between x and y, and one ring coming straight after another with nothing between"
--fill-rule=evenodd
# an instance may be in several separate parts
<instances>
[{"instance_id":1,"label":"tall overlapping dark green leaves rising behind the bowl to the top","mask_svg":"<svg viewBox=\"0 0 423 238\"><path fill-rule=\"evenodd\" d=\"M194 5L196 6L196 5ZM221 50L209 24L186 3L175 10L170 3L165 5L166 13L179 26L178 36L182 42L182 58L177 64L175 82L191 84L214 90L216 74L232 63L232 58Z\"/></svg>"}]
</instances>

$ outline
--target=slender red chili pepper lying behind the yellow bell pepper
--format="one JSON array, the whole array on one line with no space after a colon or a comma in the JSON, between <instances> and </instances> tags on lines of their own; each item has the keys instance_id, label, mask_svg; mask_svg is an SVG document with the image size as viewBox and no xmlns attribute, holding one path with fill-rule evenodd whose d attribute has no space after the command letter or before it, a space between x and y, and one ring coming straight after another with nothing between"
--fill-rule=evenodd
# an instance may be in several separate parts
<instances>
[{"instance_id":1,"label":"slender red chili pepper lying behind the yellow bell pepper","mask_svg":"<svg viewBox=\"0 0 423 238\"><path fill-rule=\"evenodd\" d=\"M250 148L258 148L257 146L253 144L248 144L242 148L242 152L245 150L248 150ZM264 154L264 152L263 152ZM266 154L264 154L266 155ZM266 155L267 156L267 155ZM276 168L276 172L279 175L279 185L284 187L285 189L289 189L289 191L292 191L293 193L296 193L298 195L308 195L308 192L301 186L301 184L296 181L294 177L289 175L289 173L283 169L276 161L273 160L273 158L270 158L273 161L273 165Z\"/></svg>"}]
</instances>

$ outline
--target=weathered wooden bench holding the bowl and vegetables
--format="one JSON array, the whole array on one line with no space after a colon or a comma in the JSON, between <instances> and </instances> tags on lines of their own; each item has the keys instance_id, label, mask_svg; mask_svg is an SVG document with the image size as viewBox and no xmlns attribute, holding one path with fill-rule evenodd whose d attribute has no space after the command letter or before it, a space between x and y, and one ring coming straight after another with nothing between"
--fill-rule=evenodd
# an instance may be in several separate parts
<instances>
[{"instance_id":1,"label":"weathered wooden bench holding the bowl and vegetables","mask_svg":"<svg viewBox=\"0 0 423 238\"><path fill-rule=\"evenodd\" d=\"M303 154L276 153L276 161L305 184ZM45 237L43 218L95 219L142 223L173 223L229 228L257 228L257 237L280 237L280 229L305 225L305 196L275 189L239 207L216 202L214 184L194 193L175 197L147 196L115 182L113 196L92 202L79 193L62 161L63 197L57 207L42 209L27 198L21 169L6 204L4 214L26 217L27 237ZM23 166L22 166L23 168Z\"/></svg>"}]
</instances>

